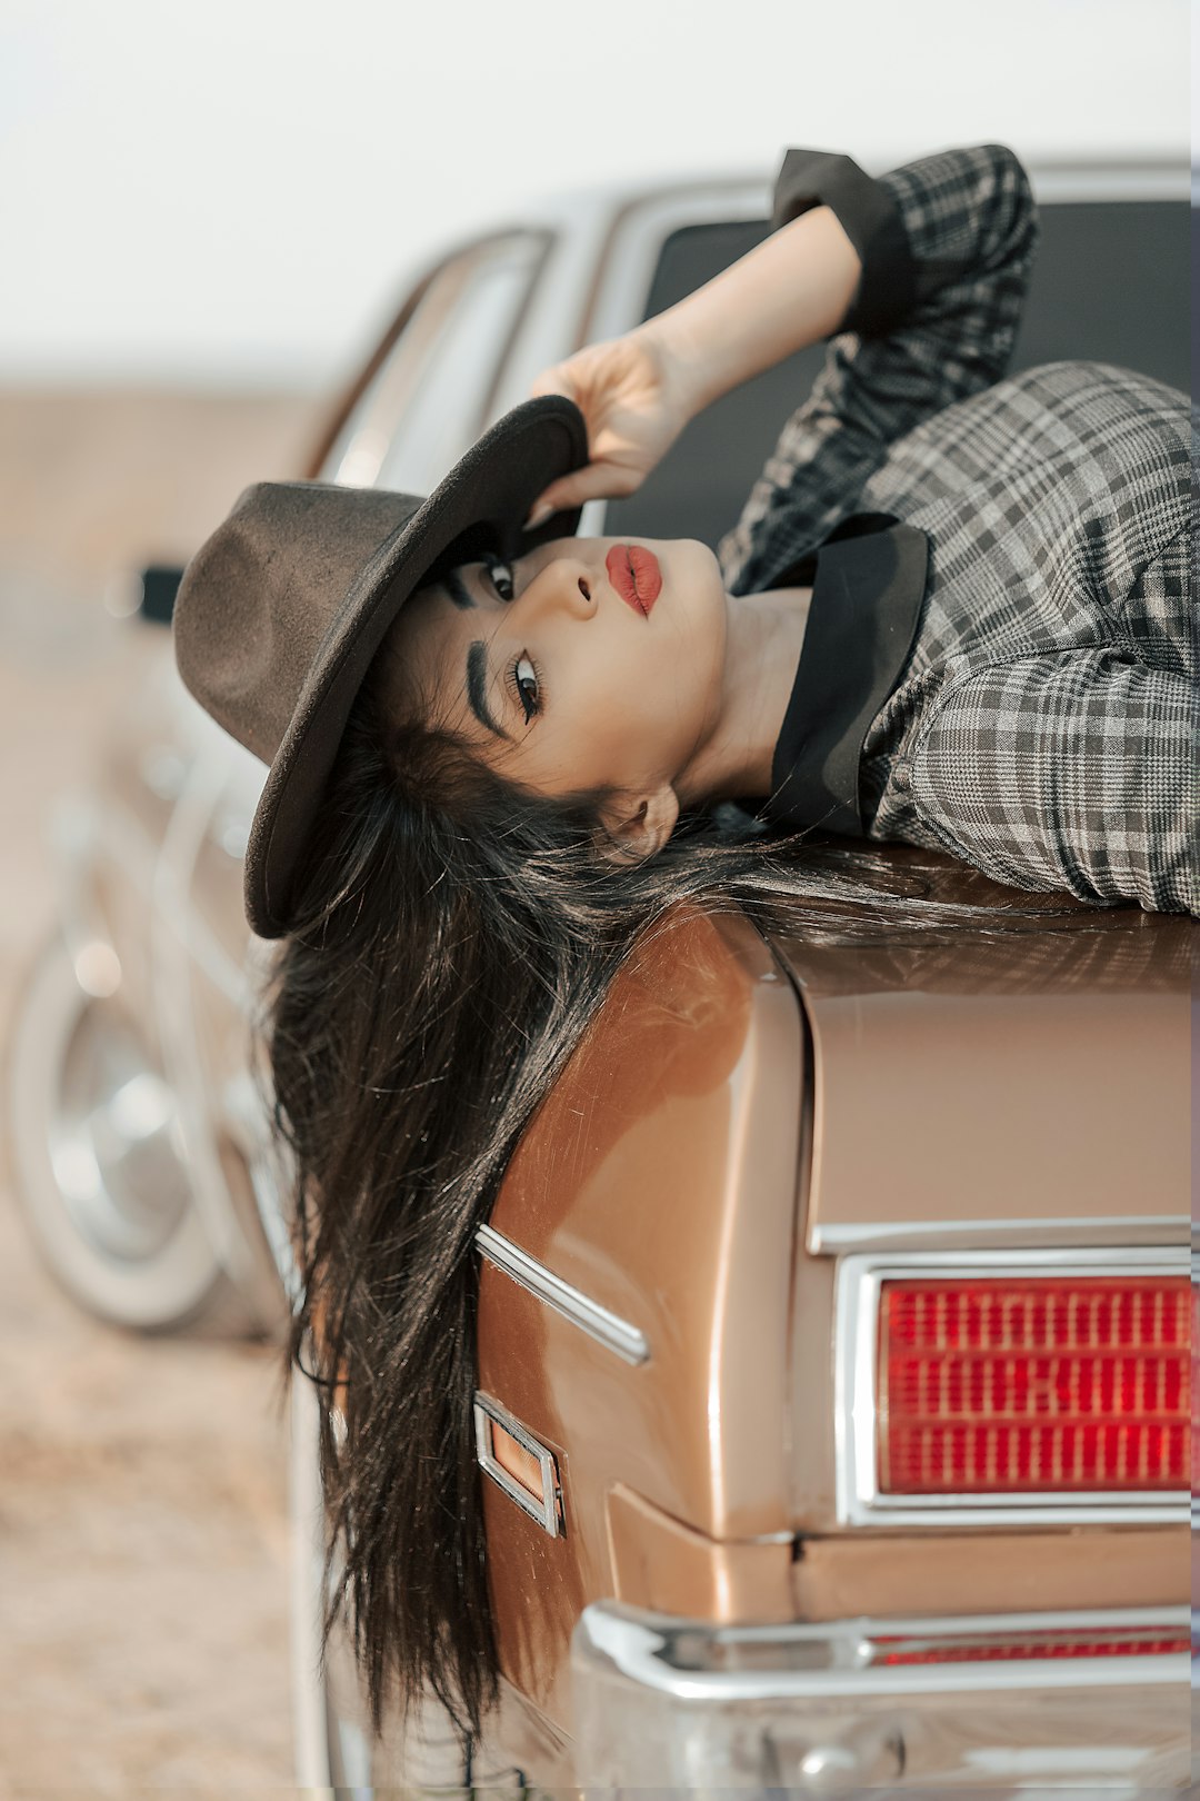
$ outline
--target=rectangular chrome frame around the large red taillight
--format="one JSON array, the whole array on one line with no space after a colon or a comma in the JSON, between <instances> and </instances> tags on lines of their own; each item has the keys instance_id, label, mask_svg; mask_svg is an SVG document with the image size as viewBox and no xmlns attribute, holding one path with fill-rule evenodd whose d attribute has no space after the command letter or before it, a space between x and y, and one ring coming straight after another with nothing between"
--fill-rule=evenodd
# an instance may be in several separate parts
<instances>
[{"instance_id":1,"label":"rectangular chrome frame around the large red taillight","mask_svg":"<svg viewBox=\"0 0 1200 1801\"><path fill-rule=\"evenodd\" d=\"M914 1275L1184 1275L1171 1246L1022 1252L876 1252L837 1272L833 1430L837 1518L842 1525L1182 1525L1187 1489L991 1495L882 1495L876 1471L876 1320L880 1286Z\"/></svg>"}]
</instances>

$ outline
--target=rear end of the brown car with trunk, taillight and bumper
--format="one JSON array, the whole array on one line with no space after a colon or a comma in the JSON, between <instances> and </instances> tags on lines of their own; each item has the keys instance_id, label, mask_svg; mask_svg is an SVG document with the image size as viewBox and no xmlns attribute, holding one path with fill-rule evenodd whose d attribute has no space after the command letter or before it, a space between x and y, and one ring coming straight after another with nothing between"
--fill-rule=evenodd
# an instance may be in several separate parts
<instances>
[{"instance_id":1,"label":"rear end of the brown car with trunk, taillight and bumper","mask_svg":"<svg viewBox=\"0 0 1200 1801\"><path fill-rule=\"evenodd\" d=\"M628 971L480 1234L538 1772L1178 1776L1193 940L1079 926Z\"/></svg>"}]
</instances>

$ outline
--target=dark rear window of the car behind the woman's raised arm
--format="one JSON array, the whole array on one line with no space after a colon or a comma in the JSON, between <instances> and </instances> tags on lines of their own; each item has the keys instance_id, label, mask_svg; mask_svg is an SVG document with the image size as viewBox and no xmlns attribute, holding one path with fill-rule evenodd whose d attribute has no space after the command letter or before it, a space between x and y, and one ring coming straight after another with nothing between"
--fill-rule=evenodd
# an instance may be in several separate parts
<instances>
[{"instance_id":1,"label":"dark rear window of the car behind the woman's raised arm","mask_svg":"<svg viewBox=\"0 0 1200 1801\"><path fill-rule=\"evenodd\" d=\"M1042 205L1042 241L1011 369L1099 358L1191 389L1191 247L1184 200ZM766 220L685 225L662 245L644 317L673 306L768 232ZM716 549L824 362L815 344L714 402L604 535L700 538Z\"/></svg>"}]
</instances>

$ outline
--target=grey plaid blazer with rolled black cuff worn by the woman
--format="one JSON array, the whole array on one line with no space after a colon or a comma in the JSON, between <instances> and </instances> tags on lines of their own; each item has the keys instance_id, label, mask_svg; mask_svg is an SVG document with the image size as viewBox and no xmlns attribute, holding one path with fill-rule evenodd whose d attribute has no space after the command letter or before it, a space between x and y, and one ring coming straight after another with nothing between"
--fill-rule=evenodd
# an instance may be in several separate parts
<instances>
[{"instance_id":1,"label":"grey plaid blazer with rolled black cuff worn by the woman","mask_svg":"<svg viewBox=\"0 0 1200 1801\"><path fill-rule=\"evenodd\" d=\"M869 180L788 151L774 223L826 202L858 294L718 548L781 585L851 513L928 538L914 645L867 728L867 832L1020 888L1200 911L1196 420L1099 362L1004 378L1036 250L1000 144Z\"/></svg>"}]
</instances>

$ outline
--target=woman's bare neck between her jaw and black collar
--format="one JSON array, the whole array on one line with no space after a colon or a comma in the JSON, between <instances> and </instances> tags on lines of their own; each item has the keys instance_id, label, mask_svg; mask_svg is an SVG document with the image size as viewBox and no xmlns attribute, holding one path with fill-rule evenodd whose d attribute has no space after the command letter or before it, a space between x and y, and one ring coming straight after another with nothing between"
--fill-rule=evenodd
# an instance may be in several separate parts
<instances>
[{"instance_id":1,"label":"woman's bare neck between her jaw and black collar","mask_svg":"<svg viewBox=\"0 0 1200 1801\"><path fill-rule=\"evenodd\" d=\"M723 702L716 728L678 780L684 805L765 796L804 648L811 587L727 594Z\"/></svg>"}]
</instances>

